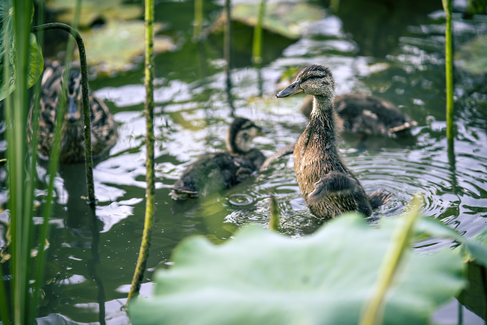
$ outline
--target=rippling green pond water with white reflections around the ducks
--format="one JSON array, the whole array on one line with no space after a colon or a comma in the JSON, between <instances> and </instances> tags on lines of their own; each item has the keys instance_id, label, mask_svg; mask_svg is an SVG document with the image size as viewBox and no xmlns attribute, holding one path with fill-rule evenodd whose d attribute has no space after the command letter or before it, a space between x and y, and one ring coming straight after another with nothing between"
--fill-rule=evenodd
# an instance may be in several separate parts
<instances>
[{"instance_id":1,"label":"rippling green pond water with white reflections around the ducks","mask_svg":"<svg viewBox=\"0 0 487 325\"><path fill-rule=\"evenodd\" d=\"M260 72L250 67L250 48L235 46L235 115L271 130L254 141L255 148L271 155L295 142L308 122L299 112L303 97L276 99L276 81L291 66L328 65L337 81L337 95L373 94L393 102L418 122L411 134L395 139L368 137L358 144L355 135L345 134L340 140L344 159L366 192L384 189L392 193L391 202L377 209L370 222L403 213L419 194L425 215L441 219L467 237L477 234L487 226L487 88L481 78L457 72L457 135L454 150L449 150L441 1L398 1L389 11L380 1L343 2L336 15L327 12L324 19L309 24L299 40L264 33ZM225 148L226 128L232 121L222 71L223 35L192 43L192 7L192 1L158 2L156 6L156 20L169 22L165 34L178 45L156 57L157 205L143 295L150 294L154 269L171 264L171 250L183 238L205 235L222 243L244 224L267 226L269 193L278 202L280 232L298 238L321 224L300 194L292 157L205 198L176 202L170 197L172 184L198 155ZM219 8L208 5L206 14L209 17ZM487 31L487 20L477 18L455 17L456 45ZM251 41L252 28L235 23L234 31L245 36L242 40ZM259 73L262 98L257 97ZM39 324L92 324L99 321L99 313L105 314L106 324L128 324L120 307L137 260L145 211L142 79L139 68L90 81L91 88L110 105L120 136L110 157L95 162L97 222L81 199L84 164L60 168L47 250L46 279L52 280L44 287ZM45 168L39 163L41 180L45 180ZM39 190L38 195L42 194ZM6 214L0 216L5 222ZM426 243L417 249L427 253L450 244ZM479 324L472 319L472 324ZM454 324L450 321L444 324Z\"/></svg>"}]
</instances>

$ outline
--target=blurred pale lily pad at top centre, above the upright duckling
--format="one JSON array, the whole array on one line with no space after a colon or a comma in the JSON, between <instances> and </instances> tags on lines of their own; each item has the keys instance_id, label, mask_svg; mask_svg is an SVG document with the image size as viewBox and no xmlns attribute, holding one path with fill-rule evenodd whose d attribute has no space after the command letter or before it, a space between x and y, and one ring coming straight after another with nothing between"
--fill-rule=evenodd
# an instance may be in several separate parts
<instances>
[{"instance_id":1,"label":"blurred pale lily pad at top centre, above the upright duckling","mask_svg":"<svg viewBox=\"0 0 487 325\"><path fill-rule=\"evenodd\" d=\"M237 3L232 7L232 19L250 26L257 25L259 2L253 4ZM307 2L272 2L265 8L262 27L284 37L297 39L301 36L306 22L325 16L324 10Z\"/></svg>"}]
</instances>

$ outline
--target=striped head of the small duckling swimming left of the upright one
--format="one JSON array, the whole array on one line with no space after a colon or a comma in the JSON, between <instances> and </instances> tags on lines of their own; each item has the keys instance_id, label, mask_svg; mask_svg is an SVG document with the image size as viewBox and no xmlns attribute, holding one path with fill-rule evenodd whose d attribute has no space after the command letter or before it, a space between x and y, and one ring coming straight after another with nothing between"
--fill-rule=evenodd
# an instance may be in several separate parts
<instances>
[{"instance_id":1,"label":"striped head of the small duckling swimming left of the upright one","mask_svg":"<svg viewBox=\"0 0 487 325\"><path fill-rule=\"evenodd\" d=\"M226 132L226 148L232 153L245 154L250 151L250 143L258 135L262 135L262 128L250 120L236 118Z\"/></svg>"}]
</instances>

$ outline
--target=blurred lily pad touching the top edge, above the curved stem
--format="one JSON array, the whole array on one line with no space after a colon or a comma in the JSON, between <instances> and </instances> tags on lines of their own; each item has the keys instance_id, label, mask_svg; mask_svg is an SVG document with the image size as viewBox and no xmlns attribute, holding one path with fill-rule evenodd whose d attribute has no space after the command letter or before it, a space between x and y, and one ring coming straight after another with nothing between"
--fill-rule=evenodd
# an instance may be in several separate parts
<instances>
[{"instance_id":1,"label":"blurred lily pad touching the top edge, above the curved stem","mask_svg":"<svg viewBox=\"0 0 487 325\"><path fill-rule=\"evenodd\" d=\"M79 15L79 26L88 27L97 19L131 20L142 16L142 6L124 3L124 0L83 0ZM57 20L72 24L75 18L76 0L49 0L46 6L58 11Z\"/></svg>"}]
</instances>

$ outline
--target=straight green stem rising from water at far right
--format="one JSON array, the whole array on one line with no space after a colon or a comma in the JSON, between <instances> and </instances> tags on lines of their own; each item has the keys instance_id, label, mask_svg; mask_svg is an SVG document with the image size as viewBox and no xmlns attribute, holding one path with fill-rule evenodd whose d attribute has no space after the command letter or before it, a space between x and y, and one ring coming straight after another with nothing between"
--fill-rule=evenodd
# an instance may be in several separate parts
<instances>
[{"instance_id":1,"label":"straight green stem rising from water at far right","mask_svg":"<svg viewBox=\"0 0 487 325\"><path fill-rule=\"evenodd\" d=\"M447 138L453 139L453 49L451 36L451 0L442 0L443 9L447 15L445 65L447 83Z\"/></svg>"}]
</instances>

